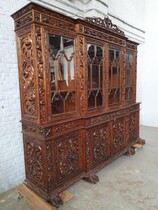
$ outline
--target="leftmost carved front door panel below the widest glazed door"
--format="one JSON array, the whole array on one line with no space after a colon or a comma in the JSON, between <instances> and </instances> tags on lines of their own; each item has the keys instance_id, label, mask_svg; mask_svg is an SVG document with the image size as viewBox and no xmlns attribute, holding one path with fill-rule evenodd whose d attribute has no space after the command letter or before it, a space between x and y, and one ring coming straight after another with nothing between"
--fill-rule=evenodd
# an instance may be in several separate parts
<instances>
[{"instance_id":1,"label":"leftmost carved front door panel below the widest glazed door","mask_svg":"<svg viewBox=\"0 0 158 210\"><path fill-rule=\"evenodd\" d=\"M79 133L54 140L56 179L58 183L71 179L82 171L82 140Z\"/></svg>"}]
</instances>

